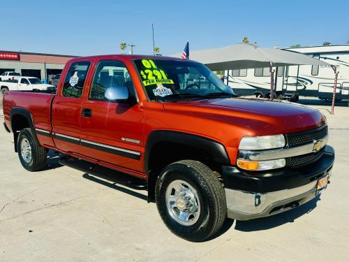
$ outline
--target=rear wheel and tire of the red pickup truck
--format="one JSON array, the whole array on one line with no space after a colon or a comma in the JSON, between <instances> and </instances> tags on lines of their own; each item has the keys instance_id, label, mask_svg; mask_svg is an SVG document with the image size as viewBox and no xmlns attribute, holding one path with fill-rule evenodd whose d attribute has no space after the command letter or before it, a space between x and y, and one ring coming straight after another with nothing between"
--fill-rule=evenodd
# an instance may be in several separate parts
<instances>
[{"instance_id":1,"label":"rear wheel and tire of the red pickup truck","mask_svg":"<svg viewBox=\"0 0 349 262\"><path fill-rule=\"evenodd\" d=\"M17 140L18 157L28 171L41 170L46 165L47 152L38 144L31 129L22 129Z\"/></svg>"}]
</instances>

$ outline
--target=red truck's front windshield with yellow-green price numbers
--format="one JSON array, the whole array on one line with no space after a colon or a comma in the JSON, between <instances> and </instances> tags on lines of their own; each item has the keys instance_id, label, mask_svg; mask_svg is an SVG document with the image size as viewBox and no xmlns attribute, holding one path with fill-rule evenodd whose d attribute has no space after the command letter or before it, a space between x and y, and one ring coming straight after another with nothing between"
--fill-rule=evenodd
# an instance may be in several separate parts
<instances>
[{"instance_id":1,"label":"red truck's front windshield with yellow-green price numbers","mask_svg":"<svg viewBox=\"0 0 349 262\"><path fill-rule=\"evenodd\" d=\"M232 89L203 64L165 59L135 59L134 62L150 100L235 96Z\"/></svg>"}]
</instances>

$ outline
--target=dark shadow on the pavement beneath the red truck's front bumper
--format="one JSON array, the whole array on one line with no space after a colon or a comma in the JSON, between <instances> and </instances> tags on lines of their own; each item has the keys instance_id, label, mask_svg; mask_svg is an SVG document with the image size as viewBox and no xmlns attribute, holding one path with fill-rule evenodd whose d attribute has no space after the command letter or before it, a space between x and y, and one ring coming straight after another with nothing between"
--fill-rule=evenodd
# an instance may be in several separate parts
<instances>
[{"instance_id":1,"label":"dark shadow on the pavement beneath the red truck's front bumper","mask_svg":"<svg viewBox=\"0 0 349 262\"><path fill-rule=\"evenodd\" d=\"M275 214L274 216L263 217L260 219L237 221L235 230L244 232L261 231L269 228L275 228L286 223L293 223L297 218L302 217L304 214L310 213L314 208L316 208L316 203L320 200L320 195L318 195L308 203L281 214Z\"/></svg>"}]
</instances>

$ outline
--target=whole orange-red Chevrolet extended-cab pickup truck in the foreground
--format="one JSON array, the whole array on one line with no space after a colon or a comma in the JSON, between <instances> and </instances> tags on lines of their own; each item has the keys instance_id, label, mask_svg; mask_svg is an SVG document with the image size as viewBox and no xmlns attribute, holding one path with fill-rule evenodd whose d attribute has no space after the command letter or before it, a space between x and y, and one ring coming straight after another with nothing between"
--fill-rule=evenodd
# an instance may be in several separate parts
<instances>
[{"instance_id":1,"label":"whole orange-red Chevrolet extended-cab pickup truck in the foreground","mask_svg":"<svg viewBox=\"0 0 349 262\"><path fill-rule=\"evenodd\" d=\"M237 98L203 64L171 57L72 59L57 94L6 92L3 115L24 168L44 168L55 150L138 177L165 225L190 241L227 217L297 208L327 187L334 164L318 110Z\"/></svg>"}]
</instances>

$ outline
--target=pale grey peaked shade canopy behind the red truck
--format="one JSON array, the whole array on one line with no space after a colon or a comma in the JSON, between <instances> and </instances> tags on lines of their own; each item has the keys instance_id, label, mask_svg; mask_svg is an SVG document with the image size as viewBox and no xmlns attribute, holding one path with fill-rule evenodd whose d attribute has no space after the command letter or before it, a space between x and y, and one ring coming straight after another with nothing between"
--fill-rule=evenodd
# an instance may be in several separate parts
<instances>
[{"instance_id":1,"label":"pale grey peaked shade canopy behind the red truck","mask_svg":"<svg viewBox=\"0 0 349 262\"><path fill-rule=\"evenodd\" d=\"M244 43L229 45L225 48L191 51L190 59L200 61L212 71L270 66L330 66L324 61L299 52L260 48L257 45Z\"/></svg>"}]
</instances>

